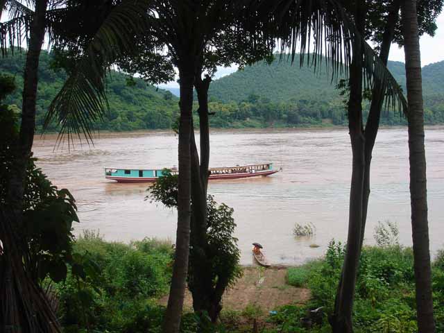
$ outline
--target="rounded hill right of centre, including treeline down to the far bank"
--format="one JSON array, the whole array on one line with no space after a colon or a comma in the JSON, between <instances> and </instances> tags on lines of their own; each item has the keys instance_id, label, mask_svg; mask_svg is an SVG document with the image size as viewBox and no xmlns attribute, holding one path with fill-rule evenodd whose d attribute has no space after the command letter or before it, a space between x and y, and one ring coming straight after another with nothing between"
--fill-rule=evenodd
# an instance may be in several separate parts
<instances>
[{"instance_id":1,"label":"rounded hill right of centre, including treeline down to the far bank","mask_svg":"<svg viewBox=\"0 0 444 333\"><path fill-rule=\"evenodd\" d=\"M343 97L335 89L336 80L323 67L293 65L287 59L271 65L257 62L210 85L210 109L216 112L212 126L324 126L329 123L346 125ZM389 62L393 76L405 88L405 68L402 62ZM422 68L425 96L425 122L444 122L444 62ZM368 102L367 102L368 105ZM364 116L366 115L364 110ZM222 116L223 115L223 116ZM405 124L396 112L384 112L384 125Z\"/></svg>"}]
</instances>

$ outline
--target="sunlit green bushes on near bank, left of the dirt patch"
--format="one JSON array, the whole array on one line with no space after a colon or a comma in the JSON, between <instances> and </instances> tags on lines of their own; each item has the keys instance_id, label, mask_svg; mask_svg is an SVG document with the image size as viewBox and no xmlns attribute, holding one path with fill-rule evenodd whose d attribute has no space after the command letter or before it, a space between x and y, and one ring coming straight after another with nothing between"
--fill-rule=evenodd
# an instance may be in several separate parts
<instances>
[{"instance_id":1,"label":"sunlit green bushes on near bank, left of the dirt patch","mask_svg":"<svg viewBox=\"0 0 444 333\"><path fill-rule=\"evenodd\" d=\"M65 332L160 332L163 308L156 300L169 287L171 244L155 239L110 243L85 232L74 252L88 255L99 274L83 280L69 273L56 284Z\"/></svg>"}]
</instances>

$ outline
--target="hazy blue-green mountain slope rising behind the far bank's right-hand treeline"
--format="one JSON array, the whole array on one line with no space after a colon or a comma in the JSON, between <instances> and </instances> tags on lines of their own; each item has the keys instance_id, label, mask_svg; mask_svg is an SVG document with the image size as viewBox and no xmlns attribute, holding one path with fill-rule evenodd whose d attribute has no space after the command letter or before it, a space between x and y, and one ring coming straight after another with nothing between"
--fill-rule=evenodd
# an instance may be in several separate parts
<instances>
[{"instance_id":1,"label":"hazy blue-green mountain slope rising behind the far bank's right-hand treeline","mask_svg":"<svg viewBox=\"0 0 444 333\"><path fill-rule=\"evenodd\" d=\"M332 83L331 71L327 74L325 60L320 70L299 66L297 56L293 65L287 58L275 60L271 65L257 62L228 76L214 80L209 95L223 102L248 101L257 95L271 102L300 100L329 101L338 96L335 82ZM388 62L388 69L405 92L405 68L402 62ZM444 61L422 68L424 94L444 94Z\"/></svg>"}]
</instances>

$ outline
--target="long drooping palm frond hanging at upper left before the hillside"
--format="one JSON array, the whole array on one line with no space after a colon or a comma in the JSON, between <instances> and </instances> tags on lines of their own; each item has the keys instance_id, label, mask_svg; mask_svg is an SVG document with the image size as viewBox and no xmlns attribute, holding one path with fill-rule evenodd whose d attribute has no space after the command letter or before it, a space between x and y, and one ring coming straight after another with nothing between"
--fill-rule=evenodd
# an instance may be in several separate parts
<instances>
[{"instance_id":1,"label":"long drooping palm frond hanging at upper left before the hillside","mask_svg":"<svg viewBox=\"0 0 444 333\"><path fill-rule=\"evenodd\" d=\"M49 107L44 129L57 119L60 124L58 142L67 135L83 133L92 142L92 124L103 118L108 110L105 94L106 77L112 63L135 47L135 32L146 30L145 13L148 0L126 0L114 8L83 53L76 68Z\"/></svg>"}]
</instances>

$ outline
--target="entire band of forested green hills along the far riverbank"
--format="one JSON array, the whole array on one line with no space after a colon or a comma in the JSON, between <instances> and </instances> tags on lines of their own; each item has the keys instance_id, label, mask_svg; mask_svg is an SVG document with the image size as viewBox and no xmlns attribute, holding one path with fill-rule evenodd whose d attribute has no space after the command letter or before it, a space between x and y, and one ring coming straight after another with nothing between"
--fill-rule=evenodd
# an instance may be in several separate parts
<instances>
[{"instance_id":1,"label":"entire band of forested green hills along the far riverbank","mask_svg":"<svg viewBox=\"0 0 444 333\"><path fill-rule=\"evenodd\" d=\"M210 110L215 114L210 125L219 128L296 127L346 125L343 96L335 89L331 73L323 66L319 71L299 67L299 59L291 65L286 59L246 67L210 85ZM324 62L325 64L325 62ZM15 75L17 91L6 100L22 105L22 73L24 55L3 59L0 71ZM404 64L389 62L393 76L405 85ZM51 57L42 53L37 100L37 128L42 127L44 114L67 75L51 67ZM444 62L423 67L425 121L444 123ZM177 119L178 98L171 92L146 85L116 71L108 80L110 110L96 128L101 130L140 130L171 128ZM405 88L404 88L405 89ZM366 102L368 103L368 102ZM196 105L197 109L197 105ZM366 112L366 111L364 111ZM384 112L384 125L404 124L398 112ZM198 125L198 119L195 119ZM52 130L56 130L53 126Z\"/></svg>"}]
</instances>

